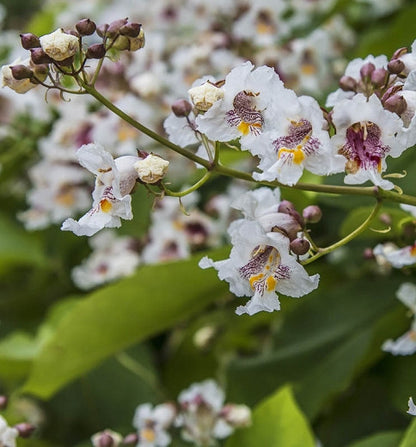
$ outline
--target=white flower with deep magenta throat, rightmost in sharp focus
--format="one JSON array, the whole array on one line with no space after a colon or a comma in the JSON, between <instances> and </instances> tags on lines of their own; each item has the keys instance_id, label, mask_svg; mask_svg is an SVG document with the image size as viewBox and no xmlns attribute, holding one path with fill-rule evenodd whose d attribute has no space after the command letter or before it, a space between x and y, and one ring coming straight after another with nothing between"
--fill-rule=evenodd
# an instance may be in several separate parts
<instances>
[{"instance_id":1,"label":"white flower with deep magenta throat, rightmost in sharp focus","mask_svg":"<svg viewBox=\"0 0 416 447\"><path fill-rule=\"evenodd\" d=\"M385 158L399 157L407 147L401 119L383 109L375 95L367 99L359 94L336 104L332 121L336 127L333 150L345 157L345 183L370 180L383 189L393 189L393 183L381 174L387 167Z\"/></svg>"}]
</instances>

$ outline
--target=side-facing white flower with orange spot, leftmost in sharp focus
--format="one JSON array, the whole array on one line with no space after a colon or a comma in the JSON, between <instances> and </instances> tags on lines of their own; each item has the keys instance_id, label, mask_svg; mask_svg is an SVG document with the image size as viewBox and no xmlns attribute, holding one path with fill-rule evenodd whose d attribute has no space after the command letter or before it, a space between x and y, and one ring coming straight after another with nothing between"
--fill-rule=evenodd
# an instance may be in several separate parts
<instances>
[{"instance_id":1,"label":"side-facing white flower with orange spot, leftmost in sharp focus","mask_svg":"<svg viewBox=\"0 0 416 447\"><path fill-rule=\"evenodd\" d=\"M136 184L134 163L138 157L127 155L113 160L101 146L87 144L78 150L77 158L96 175L93 206L78 222L65 220L61 229L73 231L77 236L92 236L104 227L119 227L120 218L132 219L129 193Z\"/></svg>"}]
</instances>

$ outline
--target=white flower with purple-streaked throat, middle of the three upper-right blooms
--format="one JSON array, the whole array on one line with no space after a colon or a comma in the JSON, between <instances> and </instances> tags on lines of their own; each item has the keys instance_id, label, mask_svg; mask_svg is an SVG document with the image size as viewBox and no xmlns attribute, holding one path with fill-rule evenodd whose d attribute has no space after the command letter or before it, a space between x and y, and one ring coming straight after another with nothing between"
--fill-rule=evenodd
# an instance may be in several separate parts
<instances>
[{"instance_id":1,"label":"white flower with purple-streaked throat, middle of the three upper-right blooms","mask_svg":"<svg viewBox=\"0 0 416 447\"><path fill-rule=\"evenodd\" d=\"M342 171L342 157L332 154L319 104L309 96L297 98L293 92L286 93L286 101L279 98L265 112L272 116L273 130L261 135L250 148L260 157L258 168L262 171L253 177L294 185L303 169L318 175Z\"/></svg>"}]
</instances>

